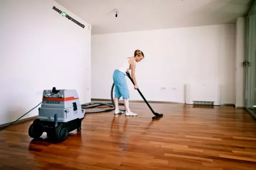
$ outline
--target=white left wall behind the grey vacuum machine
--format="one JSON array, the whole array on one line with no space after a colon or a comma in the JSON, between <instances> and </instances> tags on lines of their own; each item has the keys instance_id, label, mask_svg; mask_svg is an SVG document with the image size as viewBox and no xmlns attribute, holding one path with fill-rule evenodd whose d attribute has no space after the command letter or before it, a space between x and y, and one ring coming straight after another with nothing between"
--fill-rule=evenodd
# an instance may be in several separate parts
<instances>
[{"instance_id":1,"label":"white left wall behind the grey vacuum machine","mask_svg":"<svg viewBox=\"0 0 256 170\"><path fill-rule=\"evenodd\" d=\"M53 0L1 1L0 11L0 124L18 119L42 101L37 91L52 87L76 89L82 103L90 102L89 24ZM38 109L22 119L36 115Z\"/></svg>"}]
</instances>

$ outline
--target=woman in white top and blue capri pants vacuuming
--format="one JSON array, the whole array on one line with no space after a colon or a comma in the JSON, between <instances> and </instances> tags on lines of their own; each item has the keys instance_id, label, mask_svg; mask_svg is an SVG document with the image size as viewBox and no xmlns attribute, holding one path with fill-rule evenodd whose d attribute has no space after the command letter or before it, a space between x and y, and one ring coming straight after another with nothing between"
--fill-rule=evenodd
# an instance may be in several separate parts
<instances>
[{"instance_id":1,"label":"woman in white top and blue capri pants vacuuming","mask_svg":"<svg viewBox=\"0 0 256 170\"><path fill-rule=\"evenodd\" d=\"M120 111L118 108L119 99L122 96L125 110L126 110L125 115L126 116L137 116L137 114L131 112L131 110L129 108L128 99L130 98L130 95L129 95L129 90L128 90L125 76L126 76L126 72L128 70L132 70L131 76L134 81L134 89L137 90L138 85L137 85L136 76L135 76L135 67L136 67L136 63L140 62L142 59L144 59L144 54L142 53L142 51L136 50L136 51L134 51L133 57L128 57L124 61L124 63L119 67L119 69L116 69L114 71L114 74L113 74L113 80L115 83L115 98L114 98L115 112L114 112L114 114L123 113L123 111Z\"/></svg>"}]
</instances>

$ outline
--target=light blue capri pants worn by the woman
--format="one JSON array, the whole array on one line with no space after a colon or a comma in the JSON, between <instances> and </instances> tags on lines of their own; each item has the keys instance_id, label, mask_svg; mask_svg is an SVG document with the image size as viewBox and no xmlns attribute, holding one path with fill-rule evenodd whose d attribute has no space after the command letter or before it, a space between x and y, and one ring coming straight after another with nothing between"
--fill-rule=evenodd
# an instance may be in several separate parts
<instances>
[{"instance_id":1,"label":"light blue capri pants worn by the woman","mask_svg":"<svg viewBox=\"0 0 256 170\"><path fill-rule=\"evenodd\" d=\"M121 96L123 96L123 99L130 98L125 76L126 74L124 72L117 69L113 73L113 80L115 83L115 97L118 99L120 99Z\"/></svg>"}]
</instances>

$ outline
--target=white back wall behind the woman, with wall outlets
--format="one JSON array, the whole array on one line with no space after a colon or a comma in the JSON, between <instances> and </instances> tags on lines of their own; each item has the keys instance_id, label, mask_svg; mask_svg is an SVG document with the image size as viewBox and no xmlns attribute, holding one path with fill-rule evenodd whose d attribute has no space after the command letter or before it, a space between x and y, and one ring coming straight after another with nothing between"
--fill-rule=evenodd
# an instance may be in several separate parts
<instances>
[{"instance_id":1,"label":"white back wall behind the woman, with wall outlets","mask_svg":"<svg viewBox=\"0 0 256 170\"><path fill-rule=\"evenodd\" d=\"M136 76L147 100L184 103L186 83L217 83L221 103L233 104L235 35L235 24L92 35L92 98L110 99L114 69L139 49ZM127 81L131 100L142 100Z\"/></svg>"}]
</instances>

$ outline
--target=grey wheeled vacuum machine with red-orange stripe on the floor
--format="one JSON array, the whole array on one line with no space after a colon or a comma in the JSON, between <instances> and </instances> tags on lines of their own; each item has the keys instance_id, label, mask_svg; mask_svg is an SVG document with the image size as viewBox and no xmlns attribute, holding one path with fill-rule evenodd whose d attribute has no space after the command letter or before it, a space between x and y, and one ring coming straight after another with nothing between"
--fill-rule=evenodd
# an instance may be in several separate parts
<instances>
[{"instance_id":1,"label":"grey wheeled vacuum machine with red-orange stripe on the floor","mask_svg":"<svg viewBox=\"0 0 256 170\"><path fill-rule=\"evenodd\" d=\"M38 118L30 125L28 134L32 138L39 138L43 132L55 142L67 139L68 133L81 131L81 121L85 110L81 108L76 90L43 91L43 102L38 108Z\"/></svg>"}]
</instances>

